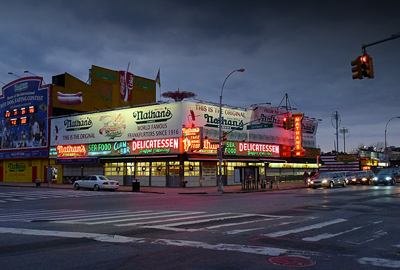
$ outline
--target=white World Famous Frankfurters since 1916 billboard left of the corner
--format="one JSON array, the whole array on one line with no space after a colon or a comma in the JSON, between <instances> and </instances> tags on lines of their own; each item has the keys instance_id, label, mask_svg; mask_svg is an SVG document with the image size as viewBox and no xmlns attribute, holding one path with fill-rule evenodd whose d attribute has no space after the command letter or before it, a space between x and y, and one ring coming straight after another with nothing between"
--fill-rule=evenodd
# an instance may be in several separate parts
<instances>
[{"instance_id":1,"label":"white World Famous Frankfurters since 1916 billboard left of the corner","mask_svg":"<svg viewBox=\"0 0 400 270\"><path fill-rule=\"evenodd\" d=\"M110 110L51 120L50 145L181 137L179 103Z\"/></svg>"}]
</instances>

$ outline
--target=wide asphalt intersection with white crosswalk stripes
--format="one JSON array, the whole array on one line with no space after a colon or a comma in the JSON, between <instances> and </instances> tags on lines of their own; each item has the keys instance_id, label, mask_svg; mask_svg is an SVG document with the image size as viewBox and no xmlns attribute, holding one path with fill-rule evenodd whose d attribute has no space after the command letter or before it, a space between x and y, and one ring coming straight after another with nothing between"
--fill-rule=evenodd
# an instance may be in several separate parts
<instances>
[{"instance_id":1,"label":"wide asphalt intersection with white crosswalk stripes","mask_svg":"<svg viewBox=\"0 0 400 270\"><path fill-rule=\"evenodd\" d=\"M400 184L166 195L0 187L1 269L400 269Z\"/></svg>"}]
</instances>

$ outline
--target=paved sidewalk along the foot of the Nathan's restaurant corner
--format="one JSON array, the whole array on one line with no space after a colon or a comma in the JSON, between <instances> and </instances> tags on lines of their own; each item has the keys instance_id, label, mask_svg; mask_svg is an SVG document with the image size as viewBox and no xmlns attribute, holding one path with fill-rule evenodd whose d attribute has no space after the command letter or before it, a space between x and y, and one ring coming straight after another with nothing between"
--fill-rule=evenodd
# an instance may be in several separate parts
<instances>
[{"instance_id":1,"label":"paved sidewalk along the foot of the Nathan's restaurant corner","mask_svg":"<svg viewBox=\"0 0 400 270\"><path fill-rule=\"evenodd\" d=\"M50 184L41 183L37 186L36 183L20 183L20 182L0 182L1 186L19 186L19 187L31 187L35 189L71 189L74 187L72 184ZM246 191L241 190L241 186L223 186L223 191L217 191L217 186L205 186L205 187L150 187L141 186L140 191L132 191L132 186L120 186L115 192L118 191L132 191L139 193L157 193L157 194L226 194L226 193L254 193L254 192L273 192L282 191L287 189L303 189L308 186L303 182L281 182L279 183L279 189L277 189L277 183L272 185L272 189L250 189Z\"/></svg>"}]
</instances>

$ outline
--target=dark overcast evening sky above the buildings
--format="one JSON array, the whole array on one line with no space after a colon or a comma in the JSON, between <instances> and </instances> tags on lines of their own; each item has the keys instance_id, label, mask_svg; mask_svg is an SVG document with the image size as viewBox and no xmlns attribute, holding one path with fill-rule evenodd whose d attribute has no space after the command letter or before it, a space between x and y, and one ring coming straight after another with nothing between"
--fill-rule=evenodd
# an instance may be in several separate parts
<instances>
[{"instance_id":1,"label":"dark overcast evening sky above the buildings","mask_svg":"<svg viewBox=\"0 0 400 270\"><path fill-rule=\"evenodd\" d=\"M51 83L88 80L92 64L154 79L161 91L248 107L290 104L322 119L317 145L332 151L332 113L348 128L346 151L384 143L400 116L400 39L367 48L374 79L352 79L362 44L400 32L400 1L6 1L1 4L0 81L24 70ZM157 100L159 88L157 87ZM167 101L168 99L162 99ZM387 128L400 146L400 119ZM343 139L339 139L343 151Z\"/></svg>"}]
</instances>

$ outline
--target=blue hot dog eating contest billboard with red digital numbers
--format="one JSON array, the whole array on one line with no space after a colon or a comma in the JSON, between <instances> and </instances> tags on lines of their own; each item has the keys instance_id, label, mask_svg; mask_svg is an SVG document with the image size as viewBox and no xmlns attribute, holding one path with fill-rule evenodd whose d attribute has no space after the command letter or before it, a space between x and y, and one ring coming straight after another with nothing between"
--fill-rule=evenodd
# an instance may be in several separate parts
<instances>
[{"instance_id":1,"label":"blue hot dog eating contest billboard with red digital numbers","mask_svg":"<svg viewBox=\"0 0 400 270\"><path fill-rule=\"evenodd\" d=\"M0 158L46 157L48 146L48 97L51 85L42 86L41 77L25 77L1 88ZM40 149L41 148L41 149Z\"/></svg>"}]
</instances>

